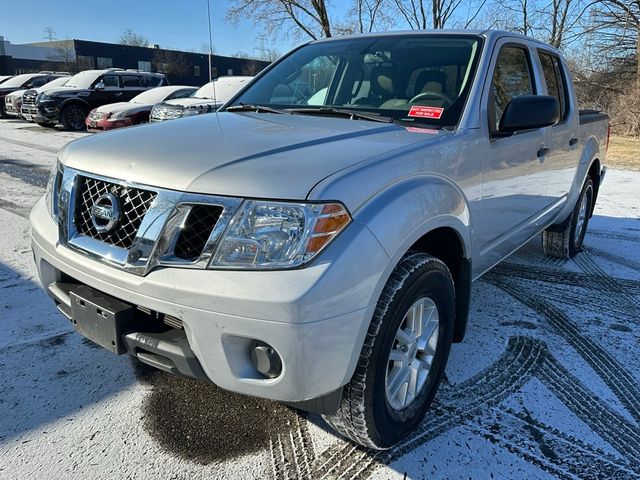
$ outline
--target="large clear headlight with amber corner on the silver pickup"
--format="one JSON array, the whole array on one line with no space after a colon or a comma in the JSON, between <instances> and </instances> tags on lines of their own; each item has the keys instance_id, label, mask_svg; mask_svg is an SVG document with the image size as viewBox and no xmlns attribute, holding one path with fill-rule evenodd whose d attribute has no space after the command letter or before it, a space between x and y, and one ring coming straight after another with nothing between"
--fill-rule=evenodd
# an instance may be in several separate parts
<instances>
[{"instance_id":1,"label":"large clear headlight with amber corner on the silver pickup","mask_svg":"<svg viewBox=\"0 0 640 480\"><path fill-rule=\"evenodd\" d=\"M296 268L311 261L350 221L339 203L245 200L209 268Z\"/></svg>"}]
</instances>

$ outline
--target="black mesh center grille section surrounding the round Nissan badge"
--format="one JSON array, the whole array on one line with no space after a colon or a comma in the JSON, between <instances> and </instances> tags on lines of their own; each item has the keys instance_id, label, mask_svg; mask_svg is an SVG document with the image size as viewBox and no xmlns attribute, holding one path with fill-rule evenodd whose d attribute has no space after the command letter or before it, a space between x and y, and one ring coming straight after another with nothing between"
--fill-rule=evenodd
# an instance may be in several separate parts
<instances>
[{"instance_id":1,"label":"black mesh center grille section surrounding the round Nissan badge","mask_svg":"<svg viewBox=\"0 0 640 480\"><path fill-rule=\"evenodd\" d=\"M120 202L121 219L112 231L100 233L91 218L91 208L102 195L111 193ZM131 188L105 182L90 177L78 177L76 194L76 226L78 232L116 247L131 248L142 219L156 193L149 190Z\"/></svg>"}]
</instances>

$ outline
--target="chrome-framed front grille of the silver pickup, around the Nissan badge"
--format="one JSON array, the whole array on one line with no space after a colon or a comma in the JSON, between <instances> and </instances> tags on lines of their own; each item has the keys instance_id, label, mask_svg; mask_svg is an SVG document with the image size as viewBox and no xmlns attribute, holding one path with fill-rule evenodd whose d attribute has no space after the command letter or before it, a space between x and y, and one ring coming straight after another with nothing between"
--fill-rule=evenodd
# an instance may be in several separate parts
<instances>
[{"instance_id":1,"label":"chrome-framed front grille of the silver pickup, around the Nissan badge","mask_svg":"<svg viewBox=\"0 0 640 480\"><path fill-rule=\"evenodd\" d=\"M237 198L148 187L69 167L64 168L56 192L60 243L136 275L146 275L159 265L206 268L242 203ZM95 218L105 196L119 210L109 228Z\"/></svg>"}]
</instances>

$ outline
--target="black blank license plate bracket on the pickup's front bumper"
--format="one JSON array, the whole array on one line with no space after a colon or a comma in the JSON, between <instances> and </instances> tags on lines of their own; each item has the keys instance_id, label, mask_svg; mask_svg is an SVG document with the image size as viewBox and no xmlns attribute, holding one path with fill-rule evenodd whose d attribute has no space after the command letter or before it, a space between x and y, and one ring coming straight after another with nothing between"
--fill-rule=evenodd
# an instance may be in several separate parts
<instances>
[{"instance_id":1,"label":"black blank license plate bracket on the pickup's front bumper","mask_svg":"<svg viewBox=\"0 0 640 480\"><path fill-rule=\"evenodd\" d=\"M121 355L123 335L135 320L135 307L82 285L69 292L73 326L82 336Z\"/></svg>"}]
</instances>

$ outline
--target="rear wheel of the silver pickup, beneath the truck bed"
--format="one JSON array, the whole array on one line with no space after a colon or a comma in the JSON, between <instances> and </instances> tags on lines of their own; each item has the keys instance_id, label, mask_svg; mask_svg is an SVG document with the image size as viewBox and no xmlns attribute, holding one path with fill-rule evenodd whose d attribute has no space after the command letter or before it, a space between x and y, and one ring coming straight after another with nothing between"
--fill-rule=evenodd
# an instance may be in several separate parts
<instances>
[{"instance_id":1,"label":"rear wheel of the silver pickup, beneath the truck bed","mask_svg":"<svg viewBox=\"0 0 640 480\"><path fill-rule=\"evenodd\" d=\"M542 232L544 253L551 257L567 259L575 257L582 251L582 242L589 226L593 202L593 180L587 176L565 228L562 230L550 228Z\"/></svg>"}]
</instances>

